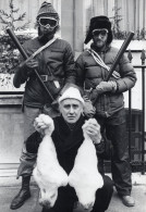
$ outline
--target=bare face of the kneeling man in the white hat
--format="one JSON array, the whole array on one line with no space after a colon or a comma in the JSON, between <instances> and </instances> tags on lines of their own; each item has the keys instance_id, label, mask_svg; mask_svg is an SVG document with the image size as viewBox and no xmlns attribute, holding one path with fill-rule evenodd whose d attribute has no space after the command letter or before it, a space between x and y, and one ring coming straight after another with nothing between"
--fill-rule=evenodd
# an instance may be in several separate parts
<instances>
[{"instance_id":1,"label":"bare face of the kneeling man in the white hat","mask_svg":"<svg viewBox=\"0 0 146 212\"><path fill-rule=\"evenodd\" d=\"M83 103L76 99L65 99L60 102L60 112L68 123L76 123L83 112Z\"/></svg>"}]
</instances>

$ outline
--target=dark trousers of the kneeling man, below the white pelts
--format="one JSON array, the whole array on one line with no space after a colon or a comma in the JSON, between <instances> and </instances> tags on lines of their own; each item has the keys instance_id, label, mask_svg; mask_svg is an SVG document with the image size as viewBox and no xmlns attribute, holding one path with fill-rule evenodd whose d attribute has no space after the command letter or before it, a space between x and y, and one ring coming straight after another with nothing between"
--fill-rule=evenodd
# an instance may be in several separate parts
<instances>
[{"instance_id":1,"label":"dark trousers of the kneeling man, below the white pelts","mask_svg":"<svg viewBox=\"0 0 146 212\"><path fill-rule=\"evenodd\" d=\"M113 192L113 183L108 176L104 176L102 188L96 191L96 201L92 212L105 212L110 203ZM42 209L42 212L73 212L77 201L75 190L70 186L59 188L58 199L52 209Z\"/></svg>"}]
</instances>

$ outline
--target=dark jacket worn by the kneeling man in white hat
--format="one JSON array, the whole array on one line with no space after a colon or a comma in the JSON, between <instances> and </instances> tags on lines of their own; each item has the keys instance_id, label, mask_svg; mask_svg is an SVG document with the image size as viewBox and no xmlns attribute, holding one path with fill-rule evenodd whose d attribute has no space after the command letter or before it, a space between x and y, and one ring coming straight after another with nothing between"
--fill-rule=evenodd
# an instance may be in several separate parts
<instances>
[{"instance_id":1,"label":"dark jacket worn by the kneeling man in white hat","mask_svg":"<svg viewBox=\"0 0 146 212\"><path fill-rule=\"evenodd\" d=\"M51 137L56 146L58 160L60 165L69 174L73 169L77 150L84 141L82 126L85 123L85 117L81 116L74 128L72 129L68 126L66 122L62 116L54 117L53 122L54 130ZM40 142L40 134L38 132L35 132L26 140L26 150L29 153L37 153ZM96 146L96 149L97 154L101 154L105 151L105 142L101 141L99 145Z\"/></svg>"}]
</instances>

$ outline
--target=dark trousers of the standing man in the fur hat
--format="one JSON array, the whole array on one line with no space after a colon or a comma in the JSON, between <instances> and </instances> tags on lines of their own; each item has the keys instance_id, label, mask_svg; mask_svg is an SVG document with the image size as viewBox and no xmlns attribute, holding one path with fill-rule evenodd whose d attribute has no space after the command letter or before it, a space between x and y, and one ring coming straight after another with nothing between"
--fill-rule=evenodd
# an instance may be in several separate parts
<instances>
[{"instance_id":1,"label":"dark trousers of the standing man in the fur hat","mask_svg":"<svg viewBox=\"0 0 146 212\"><path fill-rule=\"evenodd\" d=\"M107 136L113 145L111 157L112 178L119 195L131 195L131 165L129 161L129 144L125 139L125 123L121 125L108 125Z\"/></svg>"}]
</instances>

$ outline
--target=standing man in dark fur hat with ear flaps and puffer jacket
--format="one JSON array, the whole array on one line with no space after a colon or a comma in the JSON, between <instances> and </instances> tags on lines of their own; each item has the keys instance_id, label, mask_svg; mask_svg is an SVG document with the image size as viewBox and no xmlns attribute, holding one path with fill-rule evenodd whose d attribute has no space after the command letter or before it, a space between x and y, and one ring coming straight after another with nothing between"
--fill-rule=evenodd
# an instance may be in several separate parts
<instances>
[{"instance_id":1,"label":"standing man in dark fur hat with ear flaps and puffer jacket","mask_svg":"<svg viewBox=\"0 0 146 212\"><path fill-rule=\"evenodd\" d=\"M123 92L135 85L136 75L123 54L109 82L105 82L119 51L111 47L111 22L107 16L90 20L85 43L90 40L90 48L76 60L78 85L90 97L96 108L95 117L112 142L111 173L117 191L126 207L133 207Z\"/></svg>"}]
</instances>

